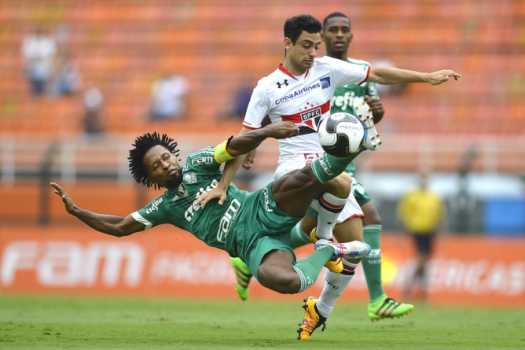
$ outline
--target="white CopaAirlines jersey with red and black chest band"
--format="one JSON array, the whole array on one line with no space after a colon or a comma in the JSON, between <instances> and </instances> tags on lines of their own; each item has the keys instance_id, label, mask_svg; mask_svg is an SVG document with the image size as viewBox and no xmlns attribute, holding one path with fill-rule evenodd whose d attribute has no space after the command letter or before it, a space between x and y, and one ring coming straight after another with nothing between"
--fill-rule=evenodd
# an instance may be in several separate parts
<instances>
[{"instance_id":1,"label":"white CopaAirlines jersey with red and black chest band","mask_svg":"<svg viewBox=\"0 0 525 350\"><path fill-rule=\"evenodd\" d=\"M369 66L331 57L316 58L312 68L294 76L282 65L259 80L244 118L243 126L258 129L266 115L272 123L289 121L299 127L299 135L279 140L279 164L298 154L323 154L317 127L330 115L330 101L339 86L366 81Z\"/></svg>"}]
</instances>

